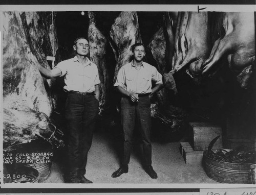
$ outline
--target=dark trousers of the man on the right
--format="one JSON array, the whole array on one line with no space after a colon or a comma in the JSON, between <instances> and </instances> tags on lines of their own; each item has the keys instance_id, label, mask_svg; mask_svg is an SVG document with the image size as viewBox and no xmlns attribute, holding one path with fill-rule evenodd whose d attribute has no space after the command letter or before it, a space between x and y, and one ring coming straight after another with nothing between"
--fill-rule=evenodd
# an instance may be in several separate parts
<instances>
[{"instance_id":1,"label":"dark trousers of the man on the right","mask_svg":"<svg viewBox=\"0 0 256 195\"><path fill-rule=\"evenodd\" d=\"M148 96L139 97L137 103L133 103L129 97L121 98L121 123L124 135L124 149L122 164L130 162L132 150L132 137L136 117L142 137L143 159L145 165L152 164L151 134L151 108Z\"/></svg>"}]
</instances>

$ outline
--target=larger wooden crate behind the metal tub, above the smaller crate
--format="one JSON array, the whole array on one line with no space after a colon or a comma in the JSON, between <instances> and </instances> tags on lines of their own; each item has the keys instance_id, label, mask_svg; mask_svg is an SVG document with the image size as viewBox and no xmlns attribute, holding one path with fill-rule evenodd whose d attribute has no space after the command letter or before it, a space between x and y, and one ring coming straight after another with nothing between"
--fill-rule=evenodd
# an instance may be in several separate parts
<instances>
[{"instance_id":1,"label":"larger wooden crate behind the metal tub, above the smaller crate","mask_svg":"<svg viewBox=\"0 0 256 195\"><path fill-rule=\"evenodd\" d=\"M193 128L194 143L193 149L195 151L205 151L210 141L220 135L215 142L213 149L222 148L222 129L220 126L210 123L189 123Z\"/></svg>"}]
</instances>

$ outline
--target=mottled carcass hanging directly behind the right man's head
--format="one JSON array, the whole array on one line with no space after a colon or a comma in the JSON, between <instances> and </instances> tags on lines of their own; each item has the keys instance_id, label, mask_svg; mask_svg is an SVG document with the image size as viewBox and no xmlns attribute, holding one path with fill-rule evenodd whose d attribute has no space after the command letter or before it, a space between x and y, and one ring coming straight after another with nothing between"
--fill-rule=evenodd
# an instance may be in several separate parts
<instances>
[{"instance_id":1,"label":"mottled carcass hanging directly behind the right man's head","mask_svg":"<svg viewBox=\"0 0 256 195\"><path fill-rule=\"evenodd\" d=\"M136 12L121 12L115 19L111 31L110 37L111 46L116 57L115 78L119 69L131 62L132 51L131 46L136 42L142 42L139 30L138 16Z\"/></svg>"}]
</instances>

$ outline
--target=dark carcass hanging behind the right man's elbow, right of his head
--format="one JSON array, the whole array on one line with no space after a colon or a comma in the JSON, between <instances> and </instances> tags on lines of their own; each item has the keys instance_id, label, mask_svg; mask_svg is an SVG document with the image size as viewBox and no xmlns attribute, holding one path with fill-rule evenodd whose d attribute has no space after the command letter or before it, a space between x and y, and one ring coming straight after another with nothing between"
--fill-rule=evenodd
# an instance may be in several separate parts
<instances>
[{"instance_id":1,"label":"dark carcass hanging behind the right man's elbow, right of his head","mask_svg":"<svg viewBox=\"0 0 256 195\"><path fill-rule=\"evenodd\" d=\"M170 69L174 53L173 22L168 12L164 13L163 18L163 26L153 35L148 48L157 63L158 71L164 74L165 77L169 77L165 73ZM167 88L172 89L176 94L177 89L174 78L168 79ZM170 80L173 81L172 84L170 84ZM165 124L171 132L175 132L179 130L184 112L180 108L175 108L170 102L170 99L168 91L165 88L158 91L157 101L151 105L151 115L160 119L161 123Z\"/></svg>"}]
</instances>

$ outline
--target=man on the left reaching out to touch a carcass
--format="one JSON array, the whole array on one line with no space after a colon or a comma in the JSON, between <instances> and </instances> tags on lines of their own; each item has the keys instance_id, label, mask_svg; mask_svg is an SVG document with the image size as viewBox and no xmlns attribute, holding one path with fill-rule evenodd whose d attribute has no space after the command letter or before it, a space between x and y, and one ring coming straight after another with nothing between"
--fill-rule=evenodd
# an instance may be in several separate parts
<instances>
[{"instance_id":1,"label":"man on the left reaching out to touch a carcass","mask_svg":"<svg viewBox=\"0 0 256 195\"><path fill-rule=\"evenodd\" d=\"M93 129L99 106L99 75L97 65L92 63L88 40L79 37L73 44L74 58L58 63L48 70L38 65L40 73L46 78L65 79L67 92L66 123L68 135L69 176L67 183L92 183L84 175L88 152L92 145Z\"/></svg>"}]
</instances>

